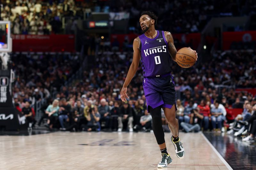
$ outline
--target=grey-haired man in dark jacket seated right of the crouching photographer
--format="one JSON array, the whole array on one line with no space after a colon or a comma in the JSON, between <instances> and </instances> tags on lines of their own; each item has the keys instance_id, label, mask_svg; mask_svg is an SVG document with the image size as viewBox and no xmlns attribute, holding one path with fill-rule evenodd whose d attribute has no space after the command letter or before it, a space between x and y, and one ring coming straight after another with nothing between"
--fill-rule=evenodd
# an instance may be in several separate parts
<instances>
[{"instance_id":1,"label":"grey-haired man in dark jacket seated right of the crouching photographer","mask_svg":"<svg viewBox=\"0 0 256 170\"><path fill-rule=\"evenodd\" d=\"M106 131L111 131L111 126L112 126L112 122L110 120L109 117L109 107L107 105L107 101L106 99L101 99L100 100L100 106L98 107L99 113L100 113L100 122L102 123L102 121L105 121L105 130Z\"/></svg>"}]
</instances>

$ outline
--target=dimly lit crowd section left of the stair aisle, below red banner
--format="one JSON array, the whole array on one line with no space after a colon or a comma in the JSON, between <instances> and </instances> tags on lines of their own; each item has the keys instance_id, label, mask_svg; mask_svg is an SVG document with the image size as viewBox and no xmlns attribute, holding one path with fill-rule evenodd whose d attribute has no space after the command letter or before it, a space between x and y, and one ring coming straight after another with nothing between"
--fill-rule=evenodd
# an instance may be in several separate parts
<instances>
[{"instance_id":1,"label":"dimly lit crowd section left of the stair aisle, below red banner","mask_svg":"<svg viewBox=\"0 0 256 170\"><path fill-rule=\"evenodd\" d=\"M50 98L80 66L78 53L12 53L12 96L20 109Z\"/></svg>"}]
</instances>

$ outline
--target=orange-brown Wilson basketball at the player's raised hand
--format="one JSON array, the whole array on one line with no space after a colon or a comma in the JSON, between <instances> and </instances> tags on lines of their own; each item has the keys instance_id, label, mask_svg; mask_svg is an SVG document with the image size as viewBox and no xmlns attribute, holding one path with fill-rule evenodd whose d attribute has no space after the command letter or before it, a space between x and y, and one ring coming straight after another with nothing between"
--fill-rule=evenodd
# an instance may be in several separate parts
<instances>
[{"instance_id":1,"label":"orange-brown Wilson basketball at the player's raised hand","mask_svg":"<svg viewBox=\"0 0 256 170\"><path fill-rule=\"evenodd\" d=\"M181 48L176 54L176 62L183 68L192 67L196 62L196 53L191 48Z\"/></svg>"}]
</instances>

